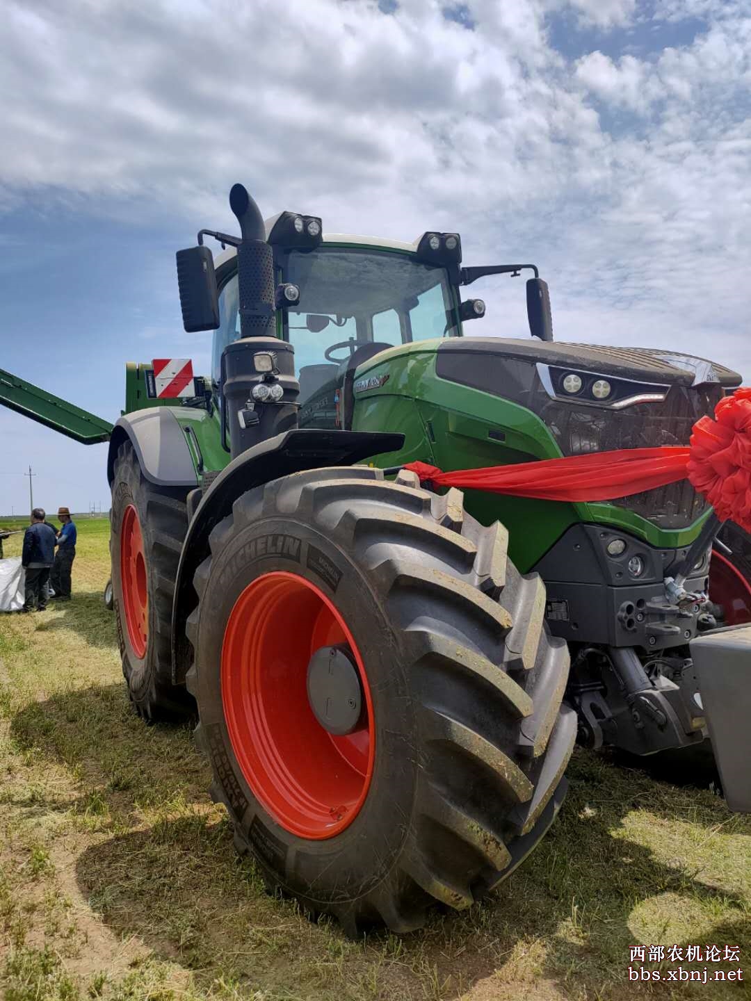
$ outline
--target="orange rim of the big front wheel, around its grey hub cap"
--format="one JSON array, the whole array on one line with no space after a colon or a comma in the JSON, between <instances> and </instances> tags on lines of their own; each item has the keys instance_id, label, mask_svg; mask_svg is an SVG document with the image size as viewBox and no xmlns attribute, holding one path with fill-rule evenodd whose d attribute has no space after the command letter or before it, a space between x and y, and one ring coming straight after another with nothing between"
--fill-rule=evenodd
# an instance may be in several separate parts
<instances>
[{"instance_id":1,"label":"orange rim of the big front wheel, around its grey hub cap","mask_svg":"<svg viewBox=\"0 0 751 1001\"><path fill-rule=\"evenodd\" d=\"M345 736L318 723L306 692L310 657L334 644L351 652L363 695L357 728ZM221 696L235 758L274 820L311 840L348 827L372 776L372 704L352 635L318 588L283 571L245 588L224 633Z\"/></svg>"}]
</instances>

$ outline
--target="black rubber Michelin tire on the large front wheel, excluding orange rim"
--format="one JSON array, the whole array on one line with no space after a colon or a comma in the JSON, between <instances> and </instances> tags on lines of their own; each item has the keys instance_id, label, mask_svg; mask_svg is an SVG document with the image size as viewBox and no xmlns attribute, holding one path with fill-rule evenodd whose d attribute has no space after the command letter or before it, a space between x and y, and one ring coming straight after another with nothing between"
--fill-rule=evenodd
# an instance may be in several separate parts
<instances>
[{"instance_id":1,"label":"black rubber Michelin tire on the large front wheel, excluding orange rim","mask_svg":"<svg viewBox=\"0 0 751 1001\"><path fill-rule=\"evenodd\" d=\"M269 542L279 539L292 543ZM298 837L277 822L243 774L224 716L230 614L254 580L279 571L335 605L371 694L367 795L333 837ZM517 573L506 530L466 515L458 490L439 496L412 473L393 483L364 466L274 480L216 526L194 587L196 737L235 845L270 887L349 935L382 923L408 932L436 901L471 905L545 833L576 737L576 716L562 707L568 650L547 631L540 578Z\"/></svg>"}]
</instances>

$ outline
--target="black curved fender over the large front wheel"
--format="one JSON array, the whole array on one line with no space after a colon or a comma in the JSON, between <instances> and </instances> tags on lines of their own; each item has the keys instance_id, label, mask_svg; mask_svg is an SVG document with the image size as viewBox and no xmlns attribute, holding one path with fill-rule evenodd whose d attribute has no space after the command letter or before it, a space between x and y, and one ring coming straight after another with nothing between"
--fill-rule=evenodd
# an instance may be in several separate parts
<instances>
[{"instance_id":1,"label":"black curved fender over the large front wheel","mask_svg":"<svg viewBox=\"0 0 751 1001\"><path fill-rule=\"evenodd\" d=\"M185 622L198 604L193 590L193 575L198 565L208 556L211 530L231 514L236 498L254 486L292 472L322 466L353 465L371 455L399 451L404 441L404 434L295 429L261 441L254 448L249 448L232 459L222 469L204 490L190 520L177 569L172 605L174 685L184 684L185 674L190 667L191 654L185 638Z\"/></svg>"}]
</instances>

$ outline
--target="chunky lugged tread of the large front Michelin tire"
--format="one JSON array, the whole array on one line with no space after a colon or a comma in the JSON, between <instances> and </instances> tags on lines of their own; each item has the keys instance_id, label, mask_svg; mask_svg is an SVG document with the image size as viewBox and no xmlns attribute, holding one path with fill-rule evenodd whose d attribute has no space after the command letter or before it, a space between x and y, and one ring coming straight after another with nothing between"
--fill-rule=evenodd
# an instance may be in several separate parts
<instances>
[{"instance_id":1,"label":"chunky lugged tread of the large front Michelin tire","mask_svg":"<svg viewBox=\"0 0 751 1001\"><path fill-rule=\"evenodd\" d=\"M423 777L412 833L387 879L354 901L303 901L334 916L348 934L373 920L398 933L414 930L432 902L462 909L495 885L517 863L515 839L534 841L536 827L547 829L550 821L541 818L565 783L576 737L576 717L562 708L568 649L548 634L542 582L509 562L503 526L484 528L464 513L459 490L439 496L416 479L404 470L394 483L366 466L324 468L249 491L213 530L211 556L195 579L202 598L211 560L235 523L293 516L338 541L387 596L410 658ZM420 552L421 564L400 551L408 546ZM435 619L445 628L427 632L411 619L415 595L441 610ZM199 621L200 606L187 625L193 649ZM194 693L199 670L194 664L186 679ZM442 691L453 693L450 705ZM228 805L217 780L212 795ZM233 819L236 841L247 850ZM437 856L437 844L453 850Z\"/></svg>"}]
</instances>

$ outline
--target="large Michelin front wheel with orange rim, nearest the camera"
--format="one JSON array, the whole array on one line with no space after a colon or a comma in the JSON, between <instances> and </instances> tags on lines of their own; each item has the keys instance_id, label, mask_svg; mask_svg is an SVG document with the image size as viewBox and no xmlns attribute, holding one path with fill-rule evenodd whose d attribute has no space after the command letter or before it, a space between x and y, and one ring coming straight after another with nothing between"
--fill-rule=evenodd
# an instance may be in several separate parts
<instances>
[{"instance_id":1,"label":"large Michelin front wheel with orange rim, nearest the camera","mask_svg":"<svg viewBox=\"0 0 751 1001\"><path fill-rule=\"evenodd\" d=\"M194 587L196 736L272 888L350 935L407 932L436 901L472 904L543 836L576 737L568 650L540 578L458 490L364 466L274 480L216 526ZM349 705L361 696L346 735L306 688L331 649Z\"/></svg>"}]
</instances>

